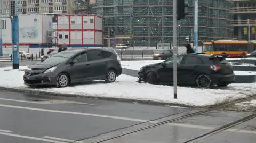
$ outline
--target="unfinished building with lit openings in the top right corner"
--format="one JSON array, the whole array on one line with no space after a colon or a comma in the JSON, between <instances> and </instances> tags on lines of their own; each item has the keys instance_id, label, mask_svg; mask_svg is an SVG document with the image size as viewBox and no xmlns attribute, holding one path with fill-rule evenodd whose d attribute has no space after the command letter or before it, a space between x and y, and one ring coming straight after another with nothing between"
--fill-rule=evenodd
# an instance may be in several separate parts
<instances>
[{"instance_id":1,"label":"unfinished building with lit openings in the top right corner","mask_svg":"<svg viewBox=\"0 0 256 143\"><path fill-rule=\"evenodd\" d=\"M250 40L256 40L256 2L250 0L230 0L233 2L231 8L234 14L234 37L239 40L248 40L250 32ZM250 30L249 30L250 27Z\"/></svg>"}]
</instances>

